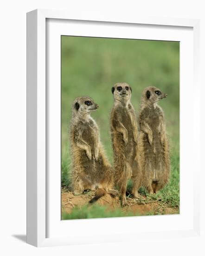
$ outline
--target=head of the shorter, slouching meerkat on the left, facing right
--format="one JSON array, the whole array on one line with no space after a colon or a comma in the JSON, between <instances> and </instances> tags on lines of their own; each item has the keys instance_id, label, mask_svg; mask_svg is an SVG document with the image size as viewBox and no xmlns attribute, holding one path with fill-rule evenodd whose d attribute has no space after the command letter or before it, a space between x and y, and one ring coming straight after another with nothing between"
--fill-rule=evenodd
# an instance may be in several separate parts
<instances>
[{"instance_id":1,"label":"head of the shorter, slouching meerkat on the left, facing right","mask_svg":"<svg viewBox=\"0 0 205 256\"><path fill-rule=\"evenodd\" d=\"M77 97L73 102L73 112L81 117L95 111L99 106L90 97Z\"/></svg>"}]
</instances>

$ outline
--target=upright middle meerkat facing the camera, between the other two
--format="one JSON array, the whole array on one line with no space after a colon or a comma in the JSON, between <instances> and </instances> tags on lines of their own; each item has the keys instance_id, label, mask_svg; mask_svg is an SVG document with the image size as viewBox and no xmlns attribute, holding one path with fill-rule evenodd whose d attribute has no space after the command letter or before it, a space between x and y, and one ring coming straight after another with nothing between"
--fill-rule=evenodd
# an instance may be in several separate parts
<instances>
[{"instance_id":1,"label":"upright middle meerkat facing the camera, between the other two","mask_svg":"<svg viewBox=\"0 0 205 256\"><path fill-rule=\"evenodd\" d=\"M114 153L115 184L119 188L122 207L126 202L128 179L132 178L132 194L139 198L138 189L141 182L140 169L136 155L137 119L130 102L132 88L127 83L116 83L112 87L114 106L111 111L111 140Z\"/></svg>"}]
</instances>

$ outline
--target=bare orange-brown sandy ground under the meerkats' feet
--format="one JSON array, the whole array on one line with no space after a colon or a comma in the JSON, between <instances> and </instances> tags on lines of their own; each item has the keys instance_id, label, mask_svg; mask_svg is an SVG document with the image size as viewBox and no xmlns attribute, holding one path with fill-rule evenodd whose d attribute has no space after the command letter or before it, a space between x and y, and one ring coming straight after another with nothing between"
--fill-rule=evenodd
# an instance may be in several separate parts
<instances>
[{"instance_id":1,"label":"bare orange-brown sandy ground under the meerkats' feet","mask_svg":"<svg viewBox=\"0 0 205 256\"><path fill-rule=\"evenodd\" d=\"M62 193L62 211L70 213L76 206L83 207L94 196L94 193L86 193L83 195L73 195L71 192ZM145 201L145 200L144 200ZM133 212L136 215L152 214L177 214L178 208L167 207L160 201L137 200L135 198L127 198L128 205L124 208L120 206L119 197L112 198L110 195L102 196L97 202L98 205L107 206L110 210L121 209L123 212Z\"/></svg>"}]
</instances>

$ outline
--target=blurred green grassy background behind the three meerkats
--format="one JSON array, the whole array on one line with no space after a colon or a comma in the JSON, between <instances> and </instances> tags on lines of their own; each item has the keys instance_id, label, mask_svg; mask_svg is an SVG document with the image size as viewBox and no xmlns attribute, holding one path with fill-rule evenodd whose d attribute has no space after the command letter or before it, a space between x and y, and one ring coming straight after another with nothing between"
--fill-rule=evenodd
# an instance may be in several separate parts
<instances>
[{"instance_id":1,"label":"blurred green grassy background behind the three meerkats","mask_svg":"<svg viewBox=\"0 0 205 256\"><path fill-rule=\"evenodd\" d=\"M70 187L69 127L76 97L90 96L99 105L91 115L112 162L109 116L111 88L116 82L127 82L132 87L131 102L136 113L147 86L168 94L159 103L171 144L172 176L167 193L172 191L179 198L179 42L173 41L61 37L62 187Z\"/></svg>"}]
</instances>

